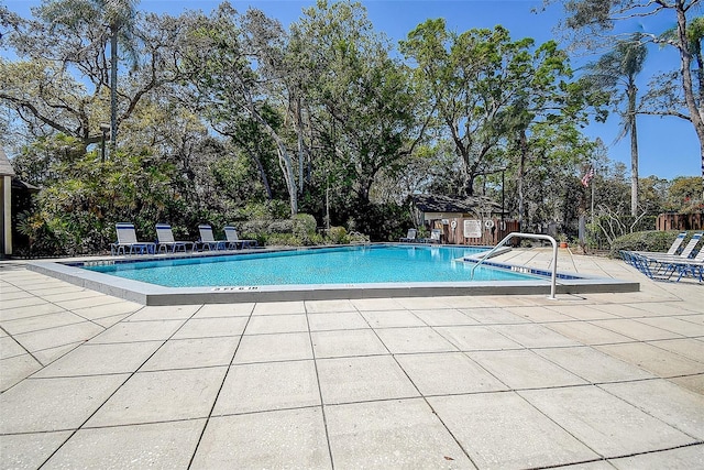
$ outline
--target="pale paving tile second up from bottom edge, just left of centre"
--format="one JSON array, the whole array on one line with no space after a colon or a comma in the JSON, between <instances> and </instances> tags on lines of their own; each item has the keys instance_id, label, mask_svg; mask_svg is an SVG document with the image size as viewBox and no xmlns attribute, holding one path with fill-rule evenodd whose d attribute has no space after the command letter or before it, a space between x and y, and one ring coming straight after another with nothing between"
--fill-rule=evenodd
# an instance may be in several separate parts
<instances>
[{"instance_id":1,"label":"pale paving tile second up from bottom edge, just left of centre","mask_svg":"<svg viewBox=\"0 0 704 470\"><path fill-rule=\"evenodd\" d=\"M320 405L312 361L233 365L213 415L241 414Z\"/></svg>"}]
</instances>

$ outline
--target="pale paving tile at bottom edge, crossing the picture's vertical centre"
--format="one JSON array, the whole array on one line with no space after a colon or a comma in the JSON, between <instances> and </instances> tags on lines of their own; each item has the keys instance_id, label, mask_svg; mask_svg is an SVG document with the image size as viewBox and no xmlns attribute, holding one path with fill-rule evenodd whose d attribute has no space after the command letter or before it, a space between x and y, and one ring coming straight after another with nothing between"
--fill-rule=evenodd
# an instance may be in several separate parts
<instances>
[{"instance_id":1,"label":"pale paving tile at bottom edge, crossing the picture's vertical centre","mask_svg":"<svg viewBox=\"0 0 704 470\"><path fill-rule=\"evenodd\" d=\"M421 400L328 406L326 417L337 468L475 468Z\"/></svg>"}]
</instances>

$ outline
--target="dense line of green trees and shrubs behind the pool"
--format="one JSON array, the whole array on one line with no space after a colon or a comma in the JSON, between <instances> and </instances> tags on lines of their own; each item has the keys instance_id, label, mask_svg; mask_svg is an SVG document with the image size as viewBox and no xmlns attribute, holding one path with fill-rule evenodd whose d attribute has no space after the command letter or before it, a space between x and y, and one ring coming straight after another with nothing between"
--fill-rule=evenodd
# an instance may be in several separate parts
<instances>
[{"instance_id":1,"label":"dense line of green trees and shrubs behind the pool","mask_svg":"<svg viewBox=\"0 0 704 470\"><path fill-rule=\"evenodd\" d=\"M502 176L530 229L590 208L580 177L595 162L600 210L629 211L624 168L580 132L614 95L552 41L428 20L396 47L348 1L318 1L288 31L227 2L172 17L46 0L33 14L0 7L15 55L0 58L0 142L42 188L19 225L35 252L102 250L121 220L148 238L166 221L180 238L238 223L312 243L317 223L388 240L414 192L497 197ZM698 186L646 179L641 209L692 205Z\"/></svg>"}]
</instances>

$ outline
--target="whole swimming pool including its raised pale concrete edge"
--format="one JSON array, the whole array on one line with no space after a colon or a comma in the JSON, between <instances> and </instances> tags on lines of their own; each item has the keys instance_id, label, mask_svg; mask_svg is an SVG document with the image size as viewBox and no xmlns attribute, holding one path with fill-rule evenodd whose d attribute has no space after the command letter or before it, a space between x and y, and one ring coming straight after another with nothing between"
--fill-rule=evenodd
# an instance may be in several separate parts
<instances>
[{"instance_id":1,"label":"whole swimming pool including its raised pale concrete edge","mask_svg":"<svg viewBox=\"0 0 704 470\"><path fill-rule=\"evenodd\" d=\"M28 263L28 267L143 305L550 293L549 271L494 260L480 265L474 280L470 281L471 269L484 250L373 243L37 261ZM510 251L508 248L502 250ZM258 264L266 266L260 269ZM286 272L287 276L284 275ZM244 274L249 277L240 277ZM166 281L169 277L172 281ZM561 273L559 270L557 278L559 294L639 289L639 284L634 282Z\"/></svg>"}]
</instances>

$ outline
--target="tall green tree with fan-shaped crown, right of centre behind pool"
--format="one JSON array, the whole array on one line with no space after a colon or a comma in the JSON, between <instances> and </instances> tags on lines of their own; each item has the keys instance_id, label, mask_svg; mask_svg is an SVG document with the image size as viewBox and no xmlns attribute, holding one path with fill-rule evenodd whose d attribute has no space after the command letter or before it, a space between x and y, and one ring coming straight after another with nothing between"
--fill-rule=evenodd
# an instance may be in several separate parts
<instances>
[{"instance_id":1,"label":"tall green tree with fan-shaped crown, right of centre behind pool","mask_svg":"<svg viewBox=\"0 0 704 470\"><path fill-rule=\"evenodd\" d=\"M571 73L566 55L553 41L535 47L502 26L457 34L438 19L418 25L400 50L417 64L436 122L462 162L457 194L472 195L474 179L496 171L493 156L508 140L526 140L531 122L552 120L575 102L563 81Z\"/></svg>"}]
</instances>

